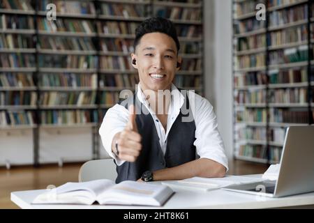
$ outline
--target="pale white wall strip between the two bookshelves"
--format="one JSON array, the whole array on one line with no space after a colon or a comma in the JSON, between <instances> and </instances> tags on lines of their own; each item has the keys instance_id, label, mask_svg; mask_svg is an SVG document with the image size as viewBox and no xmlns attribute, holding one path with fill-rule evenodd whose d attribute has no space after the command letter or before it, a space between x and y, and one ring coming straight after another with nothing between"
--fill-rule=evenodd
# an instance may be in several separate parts
<instances>
[{"instance_id":1,"label":"pale white wall strip between the two bookshelves","mask_svg":"<svg viewBox=\"0 0 314 223\"><path fill-rule=\"evenodd\" d=\"M204 1L205 97L232 158L232 1Z\"/></svg>"}]
</instances>

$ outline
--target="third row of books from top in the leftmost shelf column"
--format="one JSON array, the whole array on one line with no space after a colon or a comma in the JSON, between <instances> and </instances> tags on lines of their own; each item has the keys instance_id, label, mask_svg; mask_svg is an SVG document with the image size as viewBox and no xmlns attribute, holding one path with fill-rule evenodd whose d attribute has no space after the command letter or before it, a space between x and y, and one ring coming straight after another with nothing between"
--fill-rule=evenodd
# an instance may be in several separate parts
<instances>
[{"instance_id":1,"label":"third row of books from top in the leftmost shelf column","mask_svg":"<svg viewBox=\"0 0 314 223\"><path fill-rule=\"evenodd\" d=\"M34 48L32 36L0 33L0 49Z\"/></svg>"}]
</instances>

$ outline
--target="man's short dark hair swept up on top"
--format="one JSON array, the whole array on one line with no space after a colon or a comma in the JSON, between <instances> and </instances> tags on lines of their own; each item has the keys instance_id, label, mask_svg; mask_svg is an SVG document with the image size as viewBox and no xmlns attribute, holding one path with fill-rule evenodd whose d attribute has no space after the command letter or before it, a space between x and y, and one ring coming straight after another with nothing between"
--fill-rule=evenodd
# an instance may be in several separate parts
<instances>
[{"instance_id":1,"label":"man's short dark hair swept up on top","mask_svg":"<svg viewBox=\"0 0 314 223\"><path fill-rule=\"evenodd\" d=\"M140 43L140 39L147 33L165 33L170 36L177 45L177 51L179 52L180 43L177 36L176 28L174 24L165 19L164 17L151 17L144 20L135 29L135 40L134 40L134 50Z\"/></svg>"}]
</instances>

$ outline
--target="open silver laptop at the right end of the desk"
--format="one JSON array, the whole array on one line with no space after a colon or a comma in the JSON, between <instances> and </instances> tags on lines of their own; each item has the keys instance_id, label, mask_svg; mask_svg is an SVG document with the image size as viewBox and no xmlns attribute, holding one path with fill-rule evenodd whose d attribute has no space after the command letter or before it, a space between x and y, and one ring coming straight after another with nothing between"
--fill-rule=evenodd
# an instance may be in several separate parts
<instances>
[{"instance_id":1,"label":"open silver laptop at the right end of the desk","mask_svg":"<svg viewBox=\"0 0 314 223\"><path fill-rule=\"evenodd\" d=\"M230 185L222 190L266 197L314 192L314 125L287 128L277 180Z\"/></svg>"}]
</instances>

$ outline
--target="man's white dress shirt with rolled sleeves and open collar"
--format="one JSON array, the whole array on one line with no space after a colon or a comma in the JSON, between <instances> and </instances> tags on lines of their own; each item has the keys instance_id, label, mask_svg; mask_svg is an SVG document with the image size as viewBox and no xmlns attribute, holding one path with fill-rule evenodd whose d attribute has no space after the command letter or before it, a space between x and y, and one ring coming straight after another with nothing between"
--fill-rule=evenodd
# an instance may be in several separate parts
<instances>
[{"instance_id":1,"label":"man's white dress shirt with rolled sleeves and open collar","mask_svg":"<svg viewBox=\"0 0 314 223\"><path fill-rule=\"evenodd\" d=\"M162 123L159 121L155 112L149 107L149 103L146 100L140 84L137 86L137 98L147 108L151 116L154 118L154 123L159 137L160 147L165 154L167 147L167 136L171 130L172 124L176 120L180 113L180 109L184 104L184 94L182 94L176 86L172 84L171 87L171 100L170 107L167 116L167 130L163 128ZM217 128L216 115L214 114L213 106L206 98L188 91L188 100L190 102L190 108L192 109L192 115L195 121L195 141L196 153L200 158L207 158L223 164L228 169L227 156L225 155L225 149L223 146L223 140L220 137ZM107 153L116 160L120 166L125 161L120 160L111 151L112 139L117 132L121 132L128 123L128 109L122 105L114 105L107 110L103 123L100 126L99 134L103 141L103 146Z\"/></svg>"}]
</instances>

